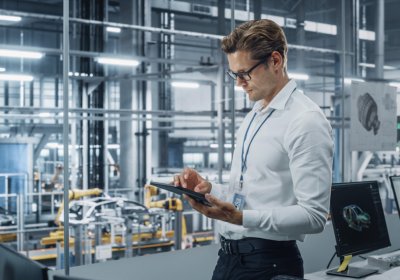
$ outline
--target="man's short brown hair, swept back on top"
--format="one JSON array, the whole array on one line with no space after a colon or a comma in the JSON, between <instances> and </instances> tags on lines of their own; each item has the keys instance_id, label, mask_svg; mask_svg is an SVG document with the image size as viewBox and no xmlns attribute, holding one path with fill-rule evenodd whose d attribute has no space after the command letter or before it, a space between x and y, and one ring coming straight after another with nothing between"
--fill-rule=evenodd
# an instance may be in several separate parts
<instances>
[{"instance_id":1,"label":"man's short brown hair, swept back on top","mask_svg":"<svg viewBox=\"0 0 400 280\"><path fill-rule=\"evenodd\" d=\"M222 50L227 53L248 51L254 60L266 59L277 51L287 63L287 41L282 28L269 19L251 20L236 27L221 42Z\"/></svg>"}]
</instances>

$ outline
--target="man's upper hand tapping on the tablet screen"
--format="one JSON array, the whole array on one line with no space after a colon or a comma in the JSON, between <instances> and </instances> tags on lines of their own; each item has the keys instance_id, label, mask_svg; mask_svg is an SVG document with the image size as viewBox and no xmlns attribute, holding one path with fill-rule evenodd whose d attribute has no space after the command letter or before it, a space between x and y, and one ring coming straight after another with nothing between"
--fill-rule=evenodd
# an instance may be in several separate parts
<instances>
[{"instance_id":1,"label":"man's upper hand tapping on the tablet screen","mask_svg":"<svg viewBox=\"0 0 400 280\"><path fill-rule=\"evenodd\" d=\"M173 184L202 194L210 193L212 188L210 182L191 168L185 168L182 173L175 175Z\"/></svg>"}]
</instances>

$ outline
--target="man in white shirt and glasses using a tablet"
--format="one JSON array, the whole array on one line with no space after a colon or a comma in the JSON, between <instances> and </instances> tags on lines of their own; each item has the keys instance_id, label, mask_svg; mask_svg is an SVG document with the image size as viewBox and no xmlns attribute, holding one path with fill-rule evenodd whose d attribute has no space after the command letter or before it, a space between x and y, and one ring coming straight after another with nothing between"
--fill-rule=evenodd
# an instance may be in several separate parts
<instances>
[{"instance_id":1,"label":"man in white shirt and glasses using a tablet","mask_svg":"<svg viewBox=\"0 0 400 280\"><path fill-rule=\"evenodd\" d=\"M195 170L174 184L204 193L212 207L187 198L218 220L213 279L303 277L296 240L321 232L329 209L332 129L320 108L289 80L287 42L273 21L254 20L222 40L228 74L255 101L237 133L229 186Z\"/></svg>"}]
</instances>

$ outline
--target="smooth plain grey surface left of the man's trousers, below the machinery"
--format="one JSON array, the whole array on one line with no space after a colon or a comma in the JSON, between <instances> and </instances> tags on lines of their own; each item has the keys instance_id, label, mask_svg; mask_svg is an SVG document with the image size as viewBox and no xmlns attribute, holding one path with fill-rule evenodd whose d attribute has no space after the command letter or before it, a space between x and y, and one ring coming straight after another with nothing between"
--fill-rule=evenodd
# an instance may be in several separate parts
<instances>
[{"instance_id":1,"label":"smooth plain grey surface left of the man's trousers, below the machinery","mask_svg":"<svg viewBox=\"0 0 400 280\"><path fill-rule=\"evenodd\" d=\"M211 279L219 245L71 267L70 275L96 280ZM53 275L64 271L50 271Z\"/></svg>"}]
</instances>

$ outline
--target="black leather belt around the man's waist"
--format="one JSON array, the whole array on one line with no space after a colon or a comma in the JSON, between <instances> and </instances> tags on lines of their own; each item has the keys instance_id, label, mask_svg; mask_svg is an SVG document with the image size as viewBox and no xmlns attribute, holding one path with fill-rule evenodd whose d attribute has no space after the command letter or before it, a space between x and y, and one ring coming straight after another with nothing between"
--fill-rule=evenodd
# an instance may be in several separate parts
<instances>
[{"instance_id":1,"label":"black leather belt around the man's waist","mask_svg":"<svg viewBox=\"0 0 400 280\"><path fill-rule=\"evenodd\" d=\"M263 238L247 237L239 240L220 236L221 250L227 255L248 254L254 251L289 248L296 246L296 241L276 241Z\"/></svg>"}]
</instances>

